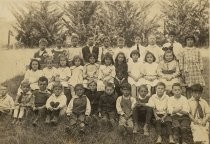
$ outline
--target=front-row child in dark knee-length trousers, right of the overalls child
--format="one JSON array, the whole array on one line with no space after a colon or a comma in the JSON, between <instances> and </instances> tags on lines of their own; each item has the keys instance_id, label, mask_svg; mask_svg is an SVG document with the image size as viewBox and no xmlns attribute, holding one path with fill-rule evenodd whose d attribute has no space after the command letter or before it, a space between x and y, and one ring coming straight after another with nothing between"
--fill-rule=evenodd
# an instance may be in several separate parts
<instances>
[{"instance_id":1,"label":"front-row child in dark knee-length trousers, right of the overalls child","mask_svg":"<svg viewBox=\"0 0 210 144\"><path fill-rule=\"evenodd\" d=\"M140 85L138 89L138 96L136 98L136 104L133 109L133 120L134 120L134 129L133 133L137 133L139 129L140 120L144 124L144 135L149 135L149 126L151 125L151 120L153 116L153 110L148 106L150 96L148 96L148 87L147 85Z\"/></svg>"}]
</instances>

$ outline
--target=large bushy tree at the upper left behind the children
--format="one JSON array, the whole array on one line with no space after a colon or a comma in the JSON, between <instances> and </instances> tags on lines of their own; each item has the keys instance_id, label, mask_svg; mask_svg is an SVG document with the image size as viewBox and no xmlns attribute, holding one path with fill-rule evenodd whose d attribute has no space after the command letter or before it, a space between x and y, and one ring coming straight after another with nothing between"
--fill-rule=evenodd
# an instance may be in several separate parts
<instances>
[{"instance_id":1,"label":"large bushy tree at the upper left behind the children","mask_svg":"<svg viewBox=\"0 0 210 144\"><path fill-rule=\"evenodd\" d=\"M16 39L28 47L37 46L40 38L53 44L63 27L60 20L63 13L54 6L55 3L44 1L27 2L24 8L13 7L11 11L17 20L14 25L18 33Z\"/></svg>"}]
</instances>

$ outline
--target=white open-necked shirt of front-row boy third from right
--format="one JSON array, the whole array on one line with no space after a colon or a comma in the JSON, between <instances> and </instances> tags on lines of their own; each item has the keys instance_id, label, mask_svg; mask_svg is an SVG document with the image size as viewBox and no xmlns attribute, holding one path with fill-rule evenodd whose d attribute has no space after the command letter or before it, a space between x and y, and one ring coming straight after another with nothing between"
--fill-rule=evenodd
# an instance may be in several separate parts
<instances>
[{"instance_id":1,"label":"white open-necked shirt of front-row boy third from right","mask_svg":"<svg viewBox=\"0 0 210 144\"><path fill-rule=\"evenodd\" d=\"M162 97L154 94L151 96L148 102L148 106L154 108L157 114L165 114L167 112L167 103L169 96L164 94Z\"/></svg>"}]
</instances>

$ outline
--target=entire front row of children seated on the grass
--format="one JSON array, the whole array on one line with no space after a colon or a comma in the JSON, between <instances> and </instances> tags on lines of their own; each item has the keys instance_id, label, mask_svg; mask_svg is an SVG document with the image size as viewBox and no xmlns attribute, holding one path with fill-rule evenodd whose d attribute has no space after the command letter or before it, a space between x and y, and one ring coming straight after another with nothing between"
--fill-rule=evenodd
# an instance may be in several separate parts
<instances>
[{"instance_id":1,"label":"entire front row of children seated on the grass","mask_svg":"<svg viewBox=\"0 0 210 144\"><path fill-rule=\"evenodd\" d=\"M193 139L196 142L208 143L207 122L210 116L210 109L207 102L201 98L203 88L196 84L191 87L192 97L187 100L182 96L181 85L175 83L172 86L173 96L165 93L165 84L159 82L156 86L156 94L149 97L146 85L141 85L138 97L131 96L131 85L125 83L121 87L122 96L117 96L114 85L107 83L105 91L97 91L97 83L92 81L88 84L89 90L85 90L82 84L75 86L76 96L70 103L66 104L66 96L63 94L63 86L60 83L53 85L53 92L47 91L48 80L46 77L39 79L39 90L31 93L30 84L27 81L21 83L22 92L16 97L14 107L11 98L4 87L1 87L1 113L14 108L13 123L20 124L25 112L32 108L36 118L33 125L37 125L40 117L46 116L46 123L57 124L60 115L67 113L69 122L68 129L72 126L79 126L84 130L85 124L92 117L101 117L100 122L110 123L115 126L119 119L119 131L125 134L139 129L139 118L144 118L144 135L149 135L149 126L154 118L154 125L158 135L156 143L162 142L161 129L166 126L170 143L178 143L179 139L183 144L192 143L188 136L193 132ZM8 99L7 101L4 101ZM66 109L67 106L67 109ZM66 110L65 110L66 109ZM6 111L5 111L6 110ZM43 115L43 111L46 115ZM118 117L119 116L119 117ZM191 128L191 129L190 129ZM202 137L198 136L203 132Z\"/></svg>"}]
</instances>

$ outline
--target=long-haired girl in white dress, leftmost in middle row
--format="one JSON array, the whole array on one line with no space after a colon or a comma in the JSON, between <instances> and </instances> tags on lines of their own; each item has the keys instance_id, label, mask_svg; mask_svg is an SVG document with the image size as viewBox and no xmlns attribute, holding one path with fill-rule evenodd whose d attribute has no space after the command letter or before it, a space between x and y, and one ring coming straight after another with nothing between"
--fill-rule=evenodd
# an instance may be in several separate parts
<instances>
[{"instance_id":1,"label":"long-haired girl in white dress, leftmost in middle row","mask_svg":"<svg viewBox=\"0 0 210 144\"><path fill-rule=\"evenodd\" d=\"M24 81L27 80L31 90L39 89L38 80L43 76L43 71L40 70L40 63L37 59L32 59L29 65L29 70L26 71Z\"/></svg>"}]
</instances>

